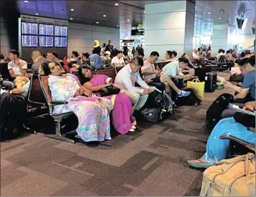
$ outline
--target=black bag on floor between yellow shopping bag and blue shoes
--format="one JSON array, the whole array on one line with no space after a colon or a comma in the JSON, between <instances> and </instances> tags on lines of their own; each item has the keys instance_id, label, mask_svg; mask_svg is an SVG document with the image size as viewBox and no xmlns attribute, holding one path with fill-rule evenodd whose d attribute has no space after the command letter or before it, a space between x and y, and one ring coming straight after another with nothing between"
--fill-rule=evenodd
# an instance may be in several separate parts
<instances>
[{"instance_id":1,"label":"black bag on floor between yellow shopping bag and blue shoes","mask_svg":"<svg viewBox=\"0 0 256 197\"><path fill-rule=\"evenodd\" d=\"M196 97L196 94L195 94L195 92L193 92L192 89L188 88L184 91L191 92L191 94L188 95L187 97L177 97L177 96L175 96L173 98L173 101L174 101L175 105L178 105L178 106L201 105L202 101L200 99L198 99L198 97Z\"/></svg>"}]
</instances>

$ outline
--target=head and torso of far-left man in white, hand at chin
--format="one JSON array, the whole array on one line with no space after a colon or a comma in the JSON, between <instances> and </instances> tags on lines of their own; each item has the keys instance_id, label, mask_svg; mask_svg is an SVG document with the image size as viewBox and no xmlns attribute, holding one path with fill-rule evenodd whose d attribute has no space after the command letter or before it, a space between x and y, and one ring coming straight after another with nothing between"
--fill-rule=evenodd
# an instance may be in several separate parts
<instances>
[{"instance_id":1,"label":"head and torso of far-left man in white, hand at chin","mask_svg":"<svg viewBox=\"0 0 256 197\"><path fill-rule=\"evenodd\" d=\"M12 78L25 77L27 74L27 62L19 59L19 52L11 50L9 57L12 60L8 63L9 74Z\"/></svg>"}]
</instances>

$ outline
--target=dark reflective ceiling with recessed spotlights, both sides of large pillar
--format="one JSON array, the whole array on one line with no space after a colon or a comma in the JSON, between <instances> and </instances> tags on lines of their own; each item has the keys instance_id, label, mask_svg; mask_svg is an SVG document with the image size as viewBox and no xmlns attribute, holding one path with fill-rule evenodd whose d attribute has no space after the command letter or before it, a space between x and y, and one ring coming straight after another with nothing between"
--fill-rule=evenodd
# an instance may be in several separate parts
<instances>
[{"instance_id":1,"label":"dark reflective ceiling with recessed spotlights, both sides of large pillar","mask_svg":"<svg viewBox=\"0 0 256 197\"><path fill-rule=\"evenodd\" d=\"M120 36L129 37L132 27L139 24L143 27L145 4L160 2L164 1L18 1L18 7L21 14L35 16L37 13L38 16L70 22L120 28ZM220 14L221 9L224 14ZM211 35L213 25L220 22L236 26L236 16L241 13L244 13L248 21L247 27L243 31L239 30L239 34L252 34L252 26L255 27L255 1L196 1L194 34Z\"/></svg>"}]
</instances>

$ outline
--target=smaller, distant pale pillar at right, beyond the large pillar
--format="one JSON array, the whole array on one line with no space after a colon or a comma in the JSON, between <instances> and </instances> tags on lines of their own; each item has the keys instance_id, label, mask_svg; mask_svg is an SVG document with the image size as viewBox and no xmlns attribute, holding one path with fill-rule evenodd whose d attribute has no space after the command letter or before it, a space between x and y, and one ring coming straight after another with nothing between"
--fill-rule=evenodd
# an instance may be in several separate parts
<instances>
[{"instance_id":1,"label":"smaller, distant pale pillar at right, beyond the large pillar","mask_svg":"<svg viewBox=\"0 0 256 197\"><path fill-rule=\"evenodd\" d=\"M219 49L224 49L225 52L233 49L236 43L235 27L229 24L215 24L212 31L211 54L218 54Z\"/></svg>"}]
</instances>

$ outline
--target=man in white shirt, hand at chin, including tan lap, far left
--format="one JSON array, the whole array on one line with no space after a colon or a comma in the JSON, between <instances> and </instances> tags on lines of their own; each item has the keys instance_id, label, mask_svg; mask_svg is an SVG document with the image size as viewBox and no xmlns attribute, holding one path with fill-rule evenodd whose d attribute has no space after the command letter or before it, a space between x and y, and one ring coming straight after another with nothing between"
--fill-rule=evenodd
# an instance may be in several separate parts
<instances>
[{"instance_id":1,"label":"man in white shirt, hand at chin, including tan lap, far left","mask_svg":"<svg viewBox=\"0 0 256 197\"><path fill-rule=\"evenodd\" d=\"M29 81L29 76L27 75L27 62L19 59L19 52L16 50L11 50L9 52L9 57L12 60L8 63L9 74L14 78L14 85L18 88L22 87Z\"/></svg>"}]
</instances>

